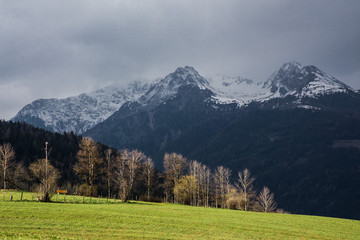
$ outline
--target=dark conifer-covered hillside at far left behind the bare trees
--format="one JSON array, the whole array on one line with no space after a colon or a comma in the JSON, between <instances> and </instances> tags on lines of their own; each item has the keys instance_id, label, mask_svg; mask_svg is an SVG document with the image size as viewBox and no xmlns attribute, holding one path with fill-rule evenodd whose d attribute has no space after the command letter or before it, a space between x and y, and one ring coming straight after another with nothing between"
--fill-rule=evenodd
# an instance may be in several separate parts
<instances>
[{"instance_id":1,"label":"dark conifer-covered hillside at far left behind the bare trees","mask_svg":"<svg viewBox=\"0 0 360 240\"><path fill-rule=\"evenodd\" d=\"M75 180L72 168L80 139L73 133L53 133L26 123L0 121L0 144L10 143L15 150L15 162L22 163L25 168L45 158L45 143L49 143L49 159L60 170L60 185ZM30 185L31 182L27 187Z\"/></svg>"}]
</instances>

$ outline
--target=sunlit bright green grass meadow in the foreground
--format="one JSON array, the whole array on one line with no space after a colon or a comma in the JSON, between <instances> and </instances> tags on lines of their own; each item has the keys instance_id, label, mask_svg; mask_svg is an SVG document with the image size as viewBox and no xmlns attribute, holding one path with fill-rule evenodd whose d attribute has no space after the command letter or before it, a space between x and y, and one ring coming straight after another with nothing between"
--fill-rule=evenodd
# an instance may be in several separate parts
<instances>
[{"instance_id":1,"label":"sunlit bright green grass meadow in the foreground","mask_svg":"<svg viewBox=\"0 0 360 240\"><path fill-rule=\"evenodd\" d=\"M82 203L73 196L63 203L61 195L55 203L31 199L0 192L0 239L360 239L354 220L97 198Z\"/></svg>"}]
</instances>

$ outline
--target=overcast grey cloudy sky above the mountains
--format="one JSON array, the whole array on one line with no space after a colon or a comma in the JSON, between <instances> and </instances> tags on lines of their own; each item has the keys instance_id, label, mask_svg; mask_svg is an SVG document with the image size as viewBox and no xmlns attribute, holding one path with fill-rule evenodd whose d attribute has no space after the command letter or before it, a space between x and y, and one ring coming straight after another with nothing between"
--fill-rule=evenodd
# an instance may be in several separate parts
<instances>
[{"instance_id":1,"label":"overcast grey cloudy sky above the mountains","mask_svg":"<svg viewBox=\"0 0 360 240\"><path fill-rule=\"evenodd\" d=\"M360 1L0 0L0 119L185 65L263 82L292 60L360 89Z\"/></svg>"}]
</instances>

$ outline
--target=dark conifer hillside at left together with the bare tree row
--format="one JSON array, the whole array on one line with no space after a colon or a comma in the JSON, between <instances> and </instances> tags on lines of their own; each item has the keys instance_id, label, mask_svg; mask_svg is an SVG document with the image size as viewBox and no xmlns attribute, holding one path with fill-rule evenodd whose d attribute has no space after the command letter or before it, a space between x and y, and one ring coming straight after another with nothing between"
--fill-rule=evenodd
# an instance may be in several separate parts
<instances>
[{"instance_id":1,"label":"dark conifer hillside at left together with the bare tree row","mask_svg":"<svg viewBox=\"0 0 360 240\"><path fill-rule=\"evenodd\" d=\"M274 194L267 187L254 189L255 178L247 169L232 181L230 168L219 165L210 169L181 154L166 153L164 172L159 173L152 159L139 150L111 149L90 138L55 134L24 123L2 121L0 129L2 187L36 192L41 201L50 201L57 189L64 189L123 202L143 199L247 211L277 210Z\"/></svg>"}]
</instances>

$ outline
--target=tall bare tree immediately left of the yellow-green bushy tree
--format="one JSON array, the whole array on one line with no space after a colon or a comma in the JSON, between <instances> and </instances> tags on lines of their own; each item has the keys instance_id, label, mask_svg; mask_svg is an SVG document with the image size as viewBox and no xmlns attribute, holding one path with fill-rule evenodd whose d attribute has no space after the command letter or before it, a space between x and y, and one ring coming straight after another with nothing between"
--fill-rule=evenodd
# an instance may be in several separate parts
<instances>
[{"instance_id":1,"label":"tall bare tree immediately left of the yellow-green bushy tree","mask_svg":"<svg viewBox=\"0 0 360 240\"><path fill-rule=\"evenodd\" d=\"M176 182L180 179L183 171L187 167L187 160L181 154L165 153L164 169L165 169L165 195L166 201L169 201L171 194L174 192ZM174 196L176 202L176 196Z\"/></svg>"}]
</instances>

